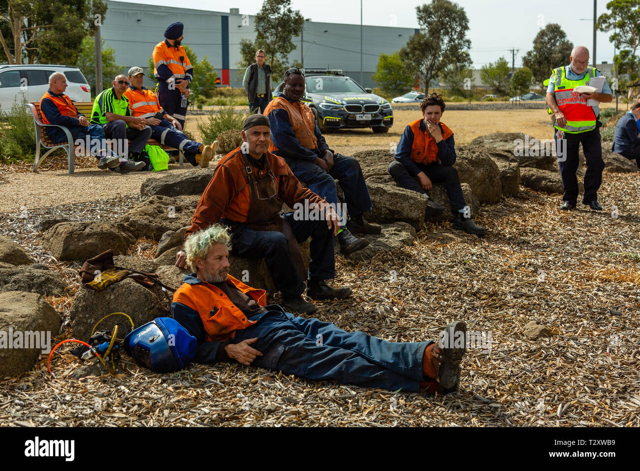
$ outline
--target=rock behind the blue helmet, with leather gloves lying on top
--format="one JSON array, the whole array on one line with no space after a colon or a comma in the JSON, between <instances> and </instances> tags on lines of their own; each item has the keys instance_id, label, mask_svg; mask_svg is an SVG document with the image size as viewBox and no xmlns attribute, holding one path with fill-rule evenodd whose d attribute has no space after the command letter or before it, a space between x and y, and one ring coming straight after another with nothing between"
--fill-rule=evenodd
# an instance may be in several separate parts
<instances>
[{"instance_id":1,"label":"rock behind the blue helmet, with leather gloves lying on top","mask_svg":"<svg viewBox=\"0 0 640 471\"><path fill-rule=\"evenodd\" d=\"M168 315L168 301L157 285L149 290L128 278L107 286L100 293L92 288L79 288L69 312L74 338L86 342L95 323L113 312L128 314L135 326L140 327L156 317ZM98 328L111 329L116 322L123 322L127 331L131 329L129 321L122 316L112 316Z\"/></svg>"}]
</instances>

